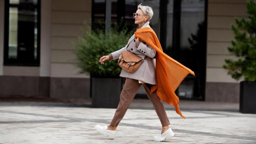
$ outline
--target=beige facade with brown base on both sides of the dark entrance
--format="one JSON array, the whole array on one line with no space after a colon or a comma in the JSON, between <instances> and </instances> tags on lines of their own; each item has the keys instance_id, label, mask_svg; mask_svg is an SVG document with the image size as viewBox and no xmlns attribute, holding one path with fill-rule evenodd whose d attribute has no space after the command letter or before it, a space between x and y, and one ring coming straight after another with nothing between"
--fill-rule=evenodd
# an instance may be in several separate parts
<instances>
[{"instance_id":1,"label":"beige facade with brown base on both sides of the dark entrance","mask_svg":"<svg viewBox=\"0 0 256 144\"><path fill-rule=\"evenodd\" d=\"M78 74L74 67L72 42L82 35L80 27L84 27L84 20L92 22L95 0L40 1L38 66L4 63L6 2L9 1L0 0L0 97L91 99L90 76ZM235 17L247 16L246 0L208 0L206 4L206 77L202 100L239 102L239 82L227 75L222 65L225 58L236 59L227 50L234 37L230 24Z\"/></svg>"}]
</instances>

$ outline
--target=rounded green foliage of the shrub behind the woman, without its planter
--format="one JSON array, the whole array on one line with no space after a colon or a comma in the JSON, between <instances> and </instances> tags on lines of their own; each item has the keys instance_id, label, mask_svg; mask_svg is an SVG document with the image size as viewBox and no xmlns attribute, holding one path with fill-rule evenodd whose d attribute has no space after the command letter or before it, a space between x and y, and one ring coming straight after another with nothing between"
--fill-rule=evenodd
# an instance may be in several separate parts
<instances>
[{"instance_id":1,"label":"rounded green foliage of the shrub behind the woman, without its planter","mask_svg":"<svg viewBox=\"0 0 256 144\"><path fill-rule=\"evenodd\" d=\"M73 51L76 55L74 65L81 74L90 74L95 78L118 78L121 68L116 60L107 60L104 65L100 64L99 60L102 56L123 48L131 32L128 32L126 27L120 28L116 23L106 34L104 28L95 26L92 29L88 27L83 30L83 36L78 37L76 49Z\"/></svg>"}]
</instances>

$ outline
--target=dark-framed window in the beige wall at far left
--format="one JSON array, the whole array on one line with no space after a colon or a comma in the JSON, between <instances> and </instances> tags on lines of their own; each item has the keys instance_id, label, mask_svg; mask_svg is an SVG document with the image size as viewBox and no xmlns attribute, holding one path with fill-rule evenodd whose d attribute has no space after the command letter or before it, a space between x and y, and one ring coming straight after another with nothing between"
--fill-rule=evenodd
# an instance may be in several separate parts
<instances>
[{"instance_id":1,"label":"dark-framed window in the beige wall at far left","mask_svg":"<svg viewBox=\"0 0 256 144\"><path fill-rule=\"evenodd\" d=\"M40 0L5 0L4 65L40 65Z\"/></svg>"}]
</instances>

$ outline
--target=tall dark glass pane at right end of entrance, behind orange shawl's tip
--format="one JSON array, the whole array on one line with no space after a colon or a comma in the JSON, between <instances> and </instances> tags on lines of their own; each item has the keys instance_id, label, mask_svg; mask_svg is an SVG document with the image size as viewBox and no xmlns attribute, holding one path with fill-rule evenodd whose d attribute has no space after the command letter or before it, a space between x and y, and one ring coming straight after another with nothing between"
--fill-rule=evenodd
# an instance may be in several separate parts
<instances>
[{"instance_id":1,"label":"tall dark glass pane at right end of entrance, behind orange shawl's tip","mask_svg":"<svg viewBox=\"0 0 256 144\"><path fill-rule=\"evenodd\" d=\"M196 74L180 84L179 96L202 98L206 65L205 0L182 0L178 60Z\"/></svg>"}]
</instances>

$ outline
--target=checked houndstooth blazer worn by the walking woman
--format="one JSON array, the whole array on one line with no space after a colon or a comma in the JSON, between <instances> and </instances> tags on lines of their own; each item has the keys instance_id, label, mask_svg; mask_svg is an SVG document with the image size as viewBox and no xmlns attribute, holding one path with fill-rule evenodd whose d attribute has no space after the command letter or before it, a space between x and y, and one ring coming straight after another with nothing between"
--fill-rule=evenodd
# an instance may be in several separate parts
<instances>
[{"instance_id":1,"label":"checked houndstooth blazer worn by the walking woman","mask_svg":"<svg viewBox=\"0 0 256 144\"><path fill-rule=\"evenodd\" d=\"M146 22L141 28L149 27L149 22ZM148 46L144 41L140 40L140 45L138 48L136 47L136 42L134 38L134 34L128 40L128 43L124 48L112 52L109 54L110 60L118 59L123 50L128 50L144 59L144 62L140 65L138 70L133 73L127 72L126 70L121 71L120 76L124 78L132 78L135 80L141 80L148 84L156 84L156 76L155 76L155 67L156 60L154 59L156 55L156 50Z\"/></svg>"}]
</instances>

